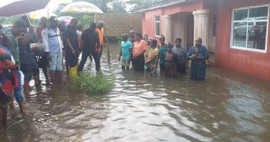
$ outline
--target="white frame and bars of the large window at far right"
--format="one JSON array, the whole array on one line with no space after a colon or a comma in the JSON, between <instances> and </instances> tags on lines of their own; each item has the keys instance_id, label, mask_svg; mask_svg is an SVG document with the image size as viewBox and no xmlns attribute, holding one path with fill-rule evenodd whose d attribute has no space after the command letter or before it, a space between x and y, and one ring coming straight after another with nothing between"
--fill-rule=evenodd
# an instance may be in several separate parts
<instances>
[{"instance_id":1,"label":"white frame and bars of the large window at far right","mask_svg":"<svg viewBox=\"0 0 270 142\"><path fill-rule=\"evenodd\" d=\"M266 38L265 38L265 48L264 50L261 50L261 49L256 49L256 48L248 48L247 47L247 42L248 42L248 38L246 37L246 47L240 47L240 46L233 46L233 36L234 36L234 29L233 29L233 23L234 22L246 22L247 23L247 26L246 26L246 35L248 34L248 28L249 28L249 9L251 8L260 8L260 7L264 7L264 6L267 6L268 7L268 12L267 12L267 19L266 20L256 20L256 21L267 21L267 33L266 33ZM231 12L231 37L230 37L230 47L231 48L235 48L235 49L239 49L239 50L242 50L242 51L253 51L253 52L258 52L258 53L267 53L267 44L268 44L268 36L269 36L269 8L270 5L269 4L264 4L264 5L257 5L257 6L246 6L246 7L242 7L242 8L234 8L232 9L232 12ZM234 21L234 13L235 13L235 10L243 10L243 9L248 9L248 16L247 16L247 20L235 20Z\"/></svg>"}]
</instances>

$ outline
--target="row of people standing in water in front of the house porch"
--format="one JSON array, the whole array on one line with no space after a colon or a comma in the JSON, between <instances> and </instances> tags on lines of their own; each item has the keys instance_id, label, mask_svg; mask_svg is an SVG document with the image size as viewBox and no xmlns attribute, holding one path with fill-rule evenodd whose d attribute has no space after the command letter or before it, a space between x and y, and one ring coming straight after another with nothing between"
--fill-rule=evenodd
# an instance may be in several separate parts
<instances>
[{"instance_id":1,"label":"row of people standing in water in front of the house porch","mask_svg":"<svg viewBox=\"0 0 270 142\"><path fill-rule=\"evenodd\" d=\"M134 33L134 30L122 35L120 54L122 56L122 69L129 69L130 63L135 71L145 71L156 75L157 69L165 73L166 77L177 78L179 74L186 73L188 60L190 64L190 79L204 80L206 76L206 60L208 60L208 50L202 45L202 39L195 39L195 46L189 50L181 45L181 38L175 39L175 45L171 42L165 43L165 37L156 39L144 37L141 33Z\"/></svg>"}]
</instances>

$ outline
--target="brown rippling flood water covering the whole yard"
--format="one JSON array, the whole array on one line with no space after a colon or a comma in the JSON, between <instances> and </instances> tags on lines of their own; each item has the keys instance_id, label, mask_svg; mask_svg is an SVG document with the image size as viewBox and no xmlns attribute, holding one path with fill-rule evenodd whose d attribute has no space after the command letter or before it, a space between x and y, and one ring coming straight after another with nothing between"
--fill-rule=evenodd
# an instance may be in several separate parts
<instances>
[{"instance_id":1,"label":"brown rippling flood water covering the whole yard","mask_svg":"<svg viewBox=\"0 0 270 142\"><path fill-rule=\"evenodd\" d=\"M213 66L200 82L145 76L121 71L118 51L111 64L102 57L102 72L116 75L111 92L33 87L27 114L15 104L0 141L270 141L270 82Z\"/></svg>"}]
</instances>

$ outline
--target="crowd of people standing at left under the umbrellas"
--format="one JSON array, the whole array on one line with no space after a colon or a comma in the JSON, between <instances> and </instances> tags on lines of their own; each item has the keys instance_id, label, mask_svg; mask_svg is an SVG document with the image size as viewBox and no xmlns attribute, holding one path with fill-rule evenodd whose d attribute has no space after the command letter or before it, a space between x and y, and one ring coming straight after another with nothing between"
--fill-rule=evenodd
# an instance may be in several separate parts
<instances>
[{"instance_id":1,"label":"crowd of people standing at left under the umbrellas","mask_svg":"<svg viewBox=\"0 0 270 142\"><path fill-rule=\"evenodd\" d=\"M12 96L15 96L21 113L26 112L24 94L28 94L31 78L35 86L41 85L39 69L42 69L47 85L62 83L63 64L68 76L77 76L87 57L91 60L93 57L96 70L100 70L105 43L102 26L99 21L98 25L92 23L82 30L78 19L71 19L66 26L57 17L42 17L39 27L35 28L24 15L11 28L0 30L0 131L7 127L7 108L14 107ZM24 74L24 85L20 71Z\"/></svg>"}]
</instances>

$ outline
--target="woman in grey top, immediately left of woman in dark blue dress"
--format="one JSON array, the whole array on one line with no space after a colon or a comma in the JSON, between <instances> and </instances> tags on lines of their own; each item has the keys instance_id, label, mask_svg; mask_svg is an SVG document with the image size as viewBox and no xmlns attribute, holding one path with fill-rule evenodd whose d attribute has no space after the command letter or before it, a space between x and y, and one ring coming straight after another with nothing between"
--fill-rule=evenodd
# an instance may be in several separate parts
<instances>
[{"instance_id":1,"label":"woman in grey top, immediately left of woman in dark blue dress","mask_svg":"<svg viewBox=\"0 0 270 142\"><path fill-rule=\"evenodd\" d=\"M175 44L172 48L172 52L177 54L177 70L179 73L186 73L186 66L188 66L188 51L186 47L181 45L182 39L175 39Z\"/></svg>"}]
</instances>

